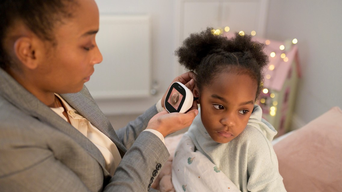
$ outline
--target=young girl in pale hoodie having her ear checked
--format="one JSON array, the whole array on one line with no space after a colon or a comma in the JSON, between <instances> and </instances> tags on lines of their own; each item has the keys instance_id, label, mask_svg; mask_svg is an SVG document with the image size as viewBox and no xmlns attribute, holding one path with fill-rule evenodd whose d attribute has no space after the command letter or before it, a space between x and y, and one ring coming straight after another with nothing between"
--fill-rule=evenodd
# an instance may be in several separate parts
<instances>
[{"instance_id":1,"label":"young girl in pale hoodie having her ear checked","mask_svg":"<svg viewBox=\"0 0 342 192\"><path fill-rule=\"evenodd\" d=\"M174 188L286 191L270 142L277 132L254 105L268 63L264 45L251 36L235 33L228 39L212 30L190 35L176 51L181 65L195 72L200 115L176 149Z\"/></svg>"}]
</instances>

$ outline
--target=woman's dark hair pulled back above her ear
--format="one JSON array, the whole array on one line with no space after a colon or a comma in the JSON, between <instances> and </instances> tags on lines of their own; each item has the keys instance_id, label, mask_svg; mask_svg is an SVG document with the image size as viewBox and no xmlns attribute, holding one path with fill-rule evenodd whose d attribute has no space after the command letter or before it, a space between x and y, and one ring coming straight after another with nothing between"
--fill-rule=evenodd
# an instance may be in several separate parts
<instances>
[{"instance_id":1,"label":"woman's dark hair pulled back above her ear","mask_svg":"<svg viewBox=\"0 0 342 192\"><path fill-rule=\"evenodd\" d=\"M42 40L54 41L53 29L63 18L72 17L70 3L78 0L1 0L0 1L0 67L11 65L4 49L8 29L18 21L23 22Z\"/></svg>"}]
</instances>

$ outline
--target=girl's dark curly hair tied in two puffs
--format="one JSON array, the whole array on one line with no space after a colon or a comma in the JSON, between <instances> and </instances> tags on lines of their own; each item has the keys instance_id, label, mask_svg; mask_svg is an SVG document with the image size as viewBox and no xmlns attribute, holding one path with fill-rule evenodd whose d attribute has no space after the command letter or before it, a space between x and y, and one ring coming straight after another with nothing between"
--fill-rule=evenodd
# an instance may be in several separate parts
<instances>
[{"instance_id":1,"label":"girl's dark curly hair tied in two puffs","mask_svg":"<svg viewBox=\"0 0 342 192\"><path fill-rule=\"evenodd\" d=\"M252 41L249 35L235 33L232 38L214 35L213 28L192 33L175 54L179 63L194 71L195 82L201 92L221 72L248 74L258 85L256 99L262 90L263 69L268 64L265 44Z\"/></svg>"}]
</instances>

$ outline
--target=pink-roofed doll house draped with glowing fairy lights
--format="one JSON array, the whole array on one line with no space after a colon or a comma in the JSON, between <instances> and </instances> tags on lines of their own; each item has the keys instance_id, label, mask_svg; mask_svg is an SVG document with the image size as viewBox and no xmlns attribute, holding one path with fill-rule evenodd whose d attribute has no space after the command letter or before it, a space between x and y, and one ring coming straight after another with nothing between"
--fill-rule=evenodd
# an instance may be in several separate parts
<instances>
[{"instance_id":1,"label":"pink-roofed doll house draped with glowing fairy lights","mask_svg":"<svg viewBox=\"0 0 342 192\"><path fill-rule=\"evenodd\" d=\"M278 137L291 131L296 90L301 75L298 48L295 45L297 39L284 42L261 38L254 40L265 42L265 52L270 61L258 105L263 110L263 118L278 131Z\"/></svg>"}]
</instances>

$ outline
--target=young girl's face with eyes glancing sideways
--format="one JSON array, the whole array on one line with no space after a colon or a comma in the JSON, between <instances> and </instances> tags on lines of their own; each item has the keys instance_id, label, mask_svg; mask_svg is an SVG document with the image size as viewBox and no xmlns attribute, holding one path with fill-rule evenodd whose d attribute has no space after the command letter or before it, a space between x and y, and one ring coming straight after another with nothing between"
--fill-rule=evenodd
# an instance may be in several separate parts
<instances>
[{"instance_id":1,"label":"young girl's face with eyes glancing sideways","mask_svg":"<svg viewBox=\"0 0 342 192\"><path fill-rule=\"evenodd\" d=\"M201 119L210 137L227 143L244 131L251 116L257 82L247 74L222 72L199 94Z\"/></svg>"}]
</instances>

